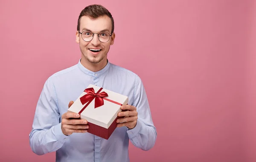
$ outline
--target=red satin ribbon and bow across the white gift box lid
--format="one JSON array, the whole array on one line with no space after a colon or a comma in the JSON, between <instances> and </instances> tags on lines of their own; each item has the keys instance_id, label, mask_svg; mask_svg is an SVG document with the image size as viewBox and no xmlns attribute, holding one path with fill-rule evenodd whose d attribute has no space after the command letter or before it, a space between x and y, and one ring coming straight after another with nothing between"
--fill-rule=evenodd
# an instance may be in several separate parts
<instances>
[{"instance_id":1,"label":"red satin ribbon and bow across the white gift box lid","mask_svg":"<svg viewBox=\"0 0 256 162\"><path fill-rule=\"evenodd\" d=\"M81 114L81 112L84 111L84 109L93 101L93 99L95 98L95 104L94 104L94 109L96 109L97 107L99 106L102 106L104 105L104 100L107 100L107 101L110 101L112 103L116 103L120 106L122 106L121 103L118 103L116 101L112 101L108 98L105 98L105 97L108 97L108 93L106 92L100 92L103 88L100 88L98 92L95 93L94 89L93 88L87 88L84 90L84 92L86 92L87 94L82 96L80 98L80 101L81 103L84 105L84 103L87 103L83 109L80 110L79 114ZM100 92L100 93L99 93Z\"/></svg>"}]
</instances>

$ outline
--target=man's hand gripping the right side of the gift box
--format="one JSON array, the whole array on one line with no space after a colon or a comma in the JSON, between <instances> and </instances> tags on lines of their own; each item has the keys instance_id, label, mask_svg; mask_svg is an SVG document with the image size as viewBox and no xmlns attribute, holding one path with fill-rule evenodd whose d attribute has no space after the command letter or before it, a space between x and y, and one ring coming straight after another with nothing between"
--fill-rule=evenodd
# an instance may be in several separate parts
<instances>
[{"instance_id":1,"label":"man's hand gripping the right side of the gift box","mask_svg":"<svg viewBox=\"0 0 256 162\"><path fill-rule=\"evenodd\" d=\"M122 105L121 109L126 111L118 113L118 116L122 118L116 120L116 123L118 123L117 127L126 126L129 129L134 128L138 119L138 112L136 111L136 107L131 105Z\"/></svg>"}]
</instances>

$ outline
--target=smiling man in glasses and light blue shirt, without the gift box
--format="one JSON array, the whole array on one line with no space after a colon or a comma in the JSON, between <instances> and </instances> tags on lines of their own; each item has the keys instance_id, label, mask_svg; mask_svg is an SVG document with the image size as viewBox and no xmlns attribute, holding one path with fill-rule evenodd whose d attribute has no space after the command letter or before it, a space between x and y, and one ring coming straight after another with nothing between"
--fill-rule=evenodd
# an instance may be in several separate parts
<instances>
[{"instance_id":1,"label":"smiling man in glasses and light blue shirt, without the gift box","mask_svg":"<svg viewBox=\"0 0 256 162\"><path fill-rule=\"evenodd\" d=\"M76 32L81 59L44 84L29 134L35 154L56 151L57 162L129 162L129 140L142 150L154 146L157 131L141 79L107 59L115 39L113 31L113 17L103 6L91 5L81 11ZM118 114L122 118L108 140L87 133L87 121L79 114L67 113L89 84L129 97L128 105L121 107L127 111Z\"/></svg>"}]
</instances>

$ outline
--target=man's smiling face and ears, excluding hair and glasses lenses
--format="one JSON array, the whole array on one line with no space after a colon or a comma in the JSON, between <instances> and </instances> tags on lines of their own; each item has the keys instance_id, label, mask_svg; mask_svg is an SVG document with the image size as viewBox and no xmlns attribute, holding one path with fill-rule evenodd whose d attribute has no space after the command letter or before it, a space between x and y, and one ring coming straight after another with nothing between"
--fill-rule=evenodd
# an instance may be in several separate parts
<instances>
[{"instance_id":1,"label":"man's smiling face and ears, excluding hair and glasses lenses","mask_svg":"<svg viewBox=\"0 0 256 162\"><path fill-rule=\"evenodd\" d=\"M79 47L82 53L81 59L87 63L97 64L102 60L107 60L107 53L110 49L110 45L113 45L115 34L113 34L108 42L102 43L98 39L98 34L102 31L106 31L111 34L112 23L108 16L98 17L91 19L88 16L83 16L80 19L80 32L90 31L94 34L93 39L90 42L85 42L82 39L82 34L76 32L76 42L79 43ZM86 32L84 32L85 34ZM86 33L87 35L89 33ZM105 36L105 34L101 34Z\"/></svg>"}]
</instances>

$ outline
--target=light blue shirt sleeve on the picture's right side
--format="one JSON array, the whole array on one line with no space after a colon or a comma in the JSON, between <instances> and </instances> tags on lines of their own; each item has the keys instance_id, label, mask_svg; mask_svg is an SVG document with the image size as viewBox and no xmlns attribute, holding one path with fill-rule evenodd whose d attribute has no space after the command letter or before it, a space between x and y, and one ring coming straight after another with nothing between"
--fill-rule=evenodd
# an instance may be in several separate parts
<instances>
[{"instance_id":1,"label":"light blue shirt sleeve on the picture's right side","mask_svg":"<svg viewBox=\"0 0 256 162\"><path fill-rule=\"evenodd\" d=\"M152 121L148 98L139 76L137 76L134 88L134 102L132 106L137 108L138 120L134 128L128 128L129 139L137 148L148 151L155 144L157 130Z\"/></svg>"}]
</instances>

